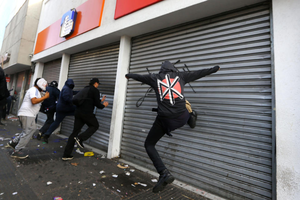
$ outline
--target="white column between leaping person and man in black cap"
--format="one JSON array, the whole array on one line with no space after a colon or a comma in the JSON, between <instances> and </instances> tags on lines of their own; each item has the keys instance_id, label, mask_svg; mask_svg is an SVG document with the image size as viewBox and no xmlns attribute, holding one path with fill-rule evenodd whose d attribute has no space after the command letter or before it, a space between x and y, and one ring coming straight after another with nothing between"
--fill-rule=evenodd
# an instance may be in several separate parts
<instances>
[{"instance_id":1,"label":"white column between leaping person and man in black cap","mask_svg":"<svg viewBox=\"0 0 300 200\"><path fill-rule=\"evenodd\" d=\"M120 155L123 133L123 119L127 90L125 74L129 72L131 52L131 37L123 35L120 42L118 68L116 76L115 93L113 97L113 113L110 125L107 158L111 159Z\"/></svg>"}]
</instances>

